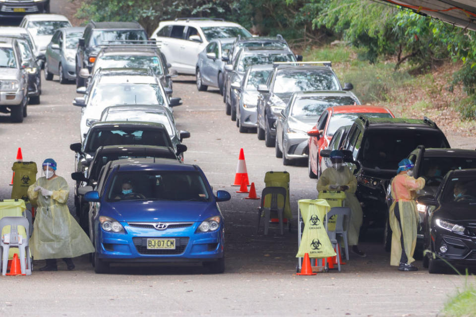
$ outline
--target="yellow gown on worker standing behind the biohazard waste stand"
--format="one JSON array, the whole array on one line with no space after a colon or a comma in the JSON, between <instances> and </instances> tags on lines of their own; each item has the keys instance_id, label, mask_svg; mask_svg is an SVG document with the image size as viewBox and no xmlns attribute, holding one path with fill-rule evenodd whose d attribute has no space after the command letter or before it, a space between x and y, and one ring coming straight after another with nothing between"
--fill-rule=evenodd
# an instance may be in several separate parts
<instances>
[{"instance_id":1,"label":"yellow gown on worker standing behind the biohazard waste stand","mask_svg":"<svg viewBox=\"0 0 476 317\"><path fill-rule=\"evenodd\" d=\"M318 191L333 190L329 188L329 185L349 186L349 189L345 191L345 206L349 207L352 212L347 236L349 239L349 245L356 246L358 244L358 233L360 231L360 226L362 225L363 217L362 208L356 197L357 179L352 174L352 171L346 166L341 170L326 168L322 172L321 177L319 177L316 188Z\"/></svg>"}]
</instances>

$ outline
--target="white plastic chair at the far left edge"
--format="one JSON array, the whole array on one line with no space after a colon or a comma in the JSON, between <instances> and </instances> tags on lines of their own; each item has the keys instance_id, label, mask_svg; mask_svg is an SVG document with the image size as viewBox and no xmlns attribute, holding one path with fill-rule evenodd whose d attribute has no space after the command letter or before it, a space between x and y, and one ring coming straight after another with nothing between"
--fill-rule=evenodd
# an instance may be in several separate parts
<instances>
[{"instance_id":1,"label":"white plastic chair at the far left edge","mask_svg":"<svg viewBox=\"0 0 476 317\"><path fill-rule=\"evenodd\" d=\"M8 265L8 254L10 248L18 248L21 273L26 275L31 275L31 253L30 253L30 237L29 234L26 235L26 238L23 238L18 233L18 226L23 226L27 233L30 232L30 223L25 217L3 217L0 219L0 234L3 230L3 227L10 226L10 232L8 233L9 241L5 243L4 238L6 236L2 235L0 239L0 248L2 249L1 253L1 274L6 274L6 267ZM25 267L25 255L26 255L26 267Z\"/></svg>"}]
</instances>

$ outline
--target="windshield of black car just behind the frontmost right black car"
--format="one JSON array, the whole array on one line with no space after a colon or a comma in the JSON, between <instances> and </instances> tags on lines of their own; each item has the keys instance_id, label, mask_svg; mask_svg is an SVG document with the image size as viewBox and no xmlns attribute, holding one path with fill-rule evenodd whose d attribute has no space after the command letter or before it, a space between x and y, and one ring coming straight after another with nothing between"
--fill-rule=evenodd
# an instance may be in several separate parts
<instances>
[{"instance_id":1,"label":"windshield of black car just behind the frontmost right black car","mask_svg":"<svg viewBox=\"0 0 476 317\"><path fill-rule=\"evenodd\" d=\"M439 186L448 171L468 168L476 168L476 157L424 157L417 176L425 176L427 186Z\"/></svg>"}]
</instances>

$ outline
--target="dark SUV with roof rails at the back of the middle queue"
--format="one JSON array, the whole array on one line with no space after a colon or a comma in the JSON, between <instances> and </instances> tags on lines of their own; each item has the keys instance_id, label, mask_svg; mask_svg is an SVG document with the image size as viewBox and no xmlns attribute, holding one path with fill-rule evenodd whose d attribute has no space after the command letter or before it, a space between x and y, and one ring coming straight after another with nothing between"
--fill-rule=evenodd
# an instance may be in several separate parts
<instances>
[{"instance_id":1,"label":"dark SUV with roof rails at the back of the middle queue","mask_svg":"<svg viewBox=\"0 0 476 317\"><path fill-rule=\"evenodd\" d=\"M147 43L147 33L137 22L94 22L88 23L78 42L76 53L76 87L84 86L84 78L79 77L81 68L91 71L96 56L108 44L124 44L136 41Z\"/></svg>"}]
</instances>

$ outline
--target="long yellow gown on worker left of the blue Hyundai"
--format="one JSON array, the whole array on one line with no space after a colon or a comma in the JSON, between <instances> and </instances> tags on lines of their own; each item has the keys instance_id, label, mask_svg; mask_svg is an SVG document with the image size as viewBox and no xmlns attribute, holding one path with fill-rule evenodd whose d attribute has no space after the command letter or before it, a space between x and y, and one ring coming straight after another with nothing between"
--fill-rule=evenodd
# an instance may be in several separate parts
<instances>
[{"instance_id":1,"label":"long yellow gown on worker left of the blue Hyundai","mask_svg":"<svg viewBox=\"0 0 476 317\"><path fill-rule=\"evenodd\" d=\"M53 195L45 198L41 191L34 191L37 186L53 191ZM49 180L41 177L28 188L30 200L38 204L30 239L35 260L74 258L94 252L88 236L69 213L68 195L68 184L60 176Z\"/></svg>"}]
</instances>

